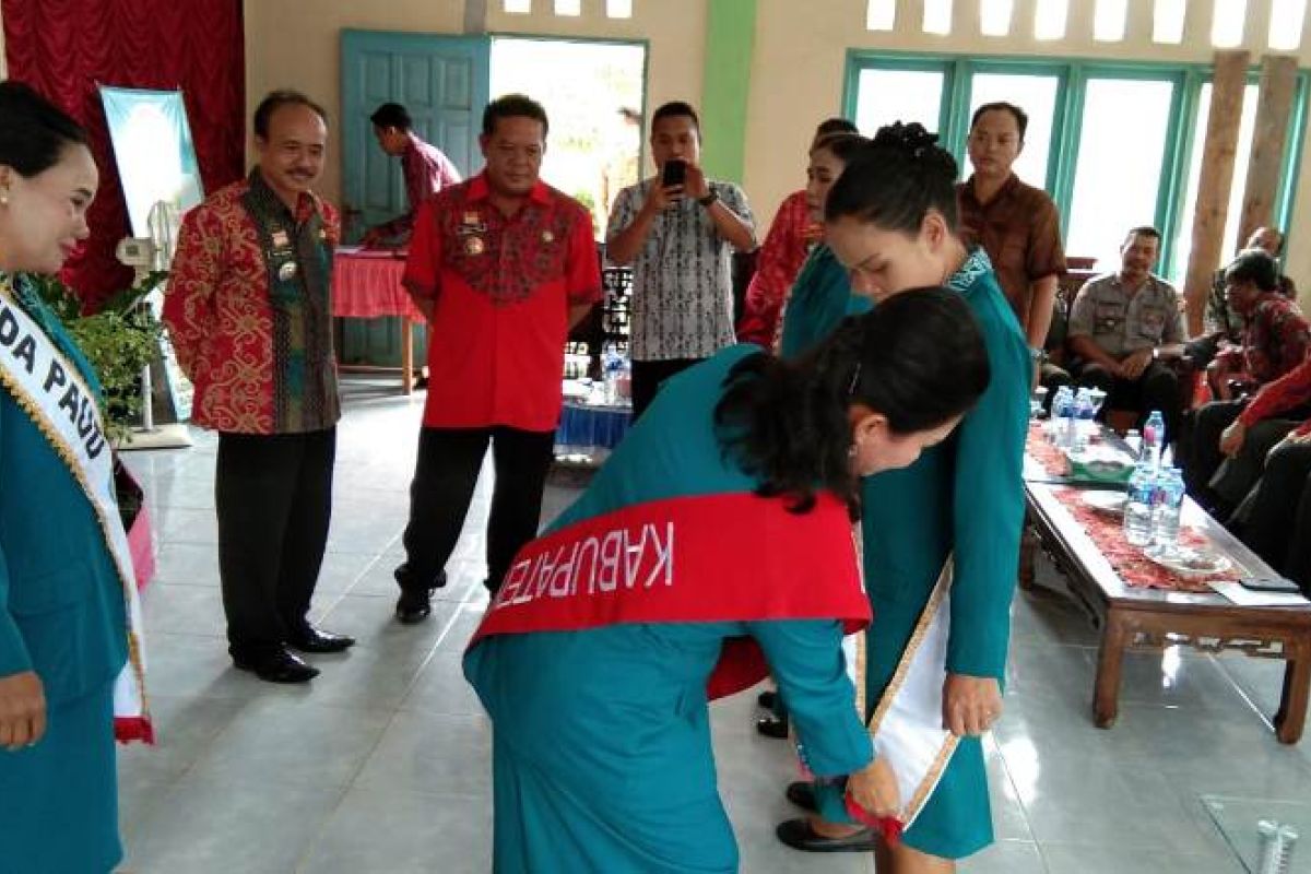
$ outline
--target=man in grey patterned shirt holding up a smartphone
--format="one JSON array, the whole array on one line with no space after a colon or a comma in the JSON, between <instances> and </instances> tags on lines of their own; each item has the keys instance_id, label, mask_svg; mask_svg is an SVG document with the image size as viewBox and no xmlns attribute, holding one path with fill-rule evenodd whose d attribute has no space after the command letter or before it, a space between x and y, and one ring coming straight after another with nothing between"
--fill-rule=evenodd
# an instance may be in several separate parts
<instances>
[{"instance_id":1,"label":"man in grey patterned shirt holding up a smartphone","mask_svg":"<svg viewBox=\"0 0 1311 874\"><path fill-rule=\"evenodd\" d=\"M611 263L633 267L633 417L659 384L734 342L732 250L755 248L746 195L701 170L700 119L684 102L652 117L657 174L619 193Z\"/></svg>"}]
</instances>

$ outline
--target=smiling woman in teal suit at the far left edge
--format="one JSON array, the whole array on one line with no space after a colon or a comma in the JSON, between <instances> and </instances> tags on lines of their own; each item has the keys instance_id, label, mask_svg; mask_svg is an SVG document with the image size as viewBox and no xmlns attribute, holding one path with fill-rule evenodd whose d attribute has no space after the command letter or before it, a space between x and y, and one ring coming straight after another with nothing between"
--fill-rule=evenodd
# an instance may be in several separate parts
<instances>
[{"instance_id":1,"label":"smiling woman in teal suit at the far left edge","mask_svg":"<svg viewBox=\"0 0 1311 874\"><path fill-rule=\"evenodd\" d=\"M22 377L41 343L98 387L13 275L58 273L88 236L97 172L81 128L25 85L0 83L0 870L97 874L122 857L113 685L127 653L123 590ZM20 316L31 346L14 337ZM41 411L58 415L54 406Z\"/></svg>"}]
</instances>

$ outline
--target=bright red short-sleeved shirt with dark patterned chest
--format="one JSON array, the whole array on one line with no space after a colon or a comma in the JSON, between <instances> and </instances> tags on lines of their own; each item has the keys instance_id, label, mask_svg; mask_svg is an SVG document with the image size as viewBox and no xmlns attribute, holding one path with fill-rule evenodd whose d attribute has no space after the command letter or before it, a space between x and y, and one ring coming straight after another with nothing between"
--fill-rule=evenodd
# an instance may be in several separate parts
<instances>
[{"instance_id":1,"label":"bright red short-sleeved shirt with dark patterned chest","mask_svg":"<svg viewBox=\"0 0 1311 874\"><path fill-rule=\"evenodd\" d=\"M569 308L602 296L591 214L541 182L511 216L489 194L479 174L414 221L405 286L434 304L423 427L551 431Z\"/></svg>"}]
</instances>

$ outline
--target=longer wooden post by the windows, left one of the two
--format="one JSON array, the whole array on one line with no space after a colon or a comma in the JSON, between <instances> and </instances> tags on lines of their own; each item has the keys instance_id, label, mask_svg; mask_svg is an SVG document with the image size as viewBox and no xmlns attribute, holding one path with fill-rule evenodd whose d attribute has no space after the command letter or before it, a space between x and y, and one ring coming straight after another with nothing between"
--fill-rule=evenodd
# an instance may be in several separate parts
<instances>
[{"instance_id":1,"label":"longer wooden post by the windows, left one of the two","mask_svg":"<svg viewBox=\"0 0 1311 874\"><path fill-rule=\"evenodd\" d=\"M1188 274L1184 280L1188 333L1192 337L1202 333L1202 316L1206 311L1206 295L1211 287L1211 274L1221 262L1249 60L1251 54L1247 51L1215 52L1211 110L1206 122L1202 177L1197 186L1197 210L1193 218L1193 249L1188 257Z\"/></svg>"}]
</instances>

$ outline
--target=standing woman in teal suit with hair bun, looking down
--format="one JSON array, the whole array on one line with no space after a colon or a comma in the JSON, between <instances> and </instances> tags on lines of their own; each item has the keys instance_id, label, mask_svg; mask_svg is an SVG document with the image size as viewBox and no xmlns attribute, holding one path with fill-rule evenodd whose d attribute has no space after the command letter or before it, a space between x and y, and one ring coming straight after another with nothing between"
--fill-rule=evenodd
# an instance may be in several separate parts
<instances>
[{"instance_id":1,"label":"standing woman in teal suit with hair bun, looking down","mask_svg":"<svg viewBox=\"0 0 1311 874\"><path fill-rule=\"evenodd\" d=\"M847 164L825 207L834 259L813 279L815 288L829 291L826 305L788 312L812 335L823 337L836 324L832 301L843 280L874 300L874 312L907 288L941 283L978 320L992 373L987 392L949 440L905 470L869 478L861 487L865 587L874 616L867 634L865 715L888 691L952 556L943 721L962 740L897 848L857 831L822 786L818 793L789 786L793 802L818 806L821 816L779 826L780 840L798 849L874 846L880 874L950 871L953 860L992 841L979 735L1002 712L1024 516L1020 470L1032 359L987 256L968 249L956 233L956 161L935 140L918 124L894 124Z\"/></svg>"}]
</instances>

